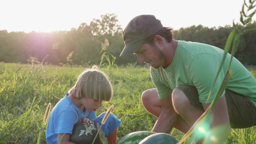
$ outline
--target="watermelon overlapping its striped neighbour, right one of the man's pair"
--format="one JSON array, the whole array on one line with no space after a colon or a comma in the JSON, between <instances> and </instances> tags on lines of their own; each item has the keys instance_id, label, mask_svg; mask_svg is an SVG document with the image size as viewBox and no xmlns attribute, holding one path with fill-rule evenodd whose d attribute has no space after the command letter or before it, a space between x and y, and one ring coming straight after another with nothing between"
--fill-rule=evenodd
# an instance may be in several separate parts
<instances>
[{"instance_id":1,"label":"watermelon overlapping its striped neighbour, right one of the man's pair","mask_svg":"<svg viewBox=\"0 0 256 144\"><path fill-rule=\"evenodd\" d=\"M177 142L178 140L170 134L155 133L141 140L139 144L176 144Z\"/></svg>"}]
</instances>

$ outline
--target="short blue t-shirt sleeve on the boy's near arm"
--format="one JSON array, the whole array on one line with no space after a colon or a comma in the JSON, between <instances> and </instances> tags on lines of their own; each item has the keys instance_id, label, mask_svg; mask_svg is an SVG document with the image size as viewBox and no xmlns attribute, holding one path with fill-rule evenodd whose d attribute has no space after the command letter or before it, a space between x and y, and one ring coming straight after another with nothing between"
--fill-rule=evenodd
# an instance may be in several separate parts
<instances>
[{"instance_id":1,"label":"short blue t-shirt sleeve on the boy's near arm","mask_svg":"<svg viewBox=\"0 0 256 144\"><path fill-rule=\"evenodd\" d=\"M54 118L54 131L55 133L70 133L74 124L76 123L76 114L73 111L62 111L58 116Z\"/></svg>"}]
</instances>

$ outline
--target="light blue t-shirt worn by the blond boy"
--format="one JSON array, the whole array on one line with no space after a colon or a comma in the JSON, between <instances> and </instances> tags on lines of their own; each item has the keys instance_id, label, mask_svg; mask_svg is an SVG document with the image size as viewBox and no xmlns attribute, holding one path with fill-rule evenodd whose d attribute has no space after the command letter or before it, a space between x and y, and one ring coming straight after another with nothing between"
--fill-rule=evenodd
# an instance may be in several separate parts
<instances>
[{"instance_id":1,"label":"light blue t-shirt worn by the blond boy","mask_svg":"<svg viewBox=\"0 0 256 144\"><path fill-rule=\"evenodd\" d=\"M49 116L46 129L48 144L57 143L58 133L72 134L74 124L78 123L81 118L86 117L90 120L96 118L95 111L89 112L86 109L82 111L67 96L68 93L54 106Z\"/></svg>"}]
</instances>

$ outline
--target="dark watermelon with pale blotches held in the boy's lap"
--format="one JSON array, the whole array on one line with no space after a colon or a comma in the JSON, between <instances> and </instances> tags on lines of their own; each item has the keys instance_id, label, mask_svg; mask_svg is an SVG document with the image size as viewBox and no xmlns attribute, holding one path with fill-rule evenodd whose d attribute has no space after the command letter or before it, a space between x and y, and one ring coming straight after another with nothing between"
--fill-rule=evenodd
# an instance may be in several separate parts
<instances>
[{"instance_id":1,"label":"dark watermelon with pale blotches held in the boy's lap","mask_svg":"<svg viewBox=\"0 0 256 144\"><path fill-rule=\"evenodd\" d=\"M69 137L70 142L76 144L91 144L98 132L97 126L90 123L76 123L73 127L72 134ZM94 144L102 144L99 134Z\"/></svg>"}]
</instances>

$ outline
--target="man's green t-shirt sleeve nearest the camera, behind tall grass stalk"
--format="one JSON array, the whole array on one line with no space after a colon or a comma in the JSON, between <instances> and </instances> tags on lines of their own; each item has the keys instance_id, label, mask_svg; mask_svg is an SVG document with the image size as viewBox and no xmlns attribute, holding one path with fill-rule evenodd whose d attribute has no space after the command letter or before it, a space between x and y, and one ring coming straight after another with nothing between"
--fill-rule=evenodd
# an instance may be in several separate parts
<instances>
[{"instance_id":1,"label":"man's green t-shirt sleeve nearest the camera, behind tall grass stalk","mask_svg":"<svg viewBox=\"0 0 256 144\"><path fill-rule=\"evenodd\" d=\"M207 101L214 78L218 72L220 61L221 60L217 59L216 55L210 53L196 55L196 57L191 60L189 66L189 77L198 91L199 101L201 103L206 103ZM212 102L220 87L223 77L224 72L223 68L221 68L220 74L213 86L211 96L207 103ZM225 91L222 93L221 97L224 95L224 93Z\"/></svg>"}]
</instances>

